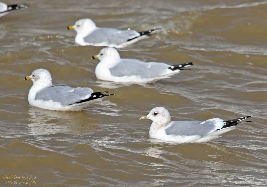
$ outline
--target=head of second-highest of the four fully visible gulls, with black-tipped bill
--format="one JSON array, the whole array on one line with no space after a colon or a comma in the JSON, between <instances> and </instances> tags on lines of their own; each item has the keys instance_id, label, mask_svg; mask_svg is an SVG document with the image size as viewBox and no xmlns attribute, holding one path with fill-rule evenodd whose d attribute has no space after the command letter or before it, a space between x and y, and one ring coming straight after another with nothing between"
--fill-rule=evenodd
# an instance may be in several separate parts
<instances>
[{"instance_id":1,"label":"head of second-highest of the four fully visible gulls, with black-tipped bill","mask_svg":"<svg viewBox=\"0 0 267 187\"><path fill-rule=\"evenodd\" d=\"M106 47L100 50L99 54L94 55L91 57L91 60L93 59L99 59L101 60L114 60L114 59L120 59L120 54L118 51L113 47Z\"/></svg>"}]
</instances>

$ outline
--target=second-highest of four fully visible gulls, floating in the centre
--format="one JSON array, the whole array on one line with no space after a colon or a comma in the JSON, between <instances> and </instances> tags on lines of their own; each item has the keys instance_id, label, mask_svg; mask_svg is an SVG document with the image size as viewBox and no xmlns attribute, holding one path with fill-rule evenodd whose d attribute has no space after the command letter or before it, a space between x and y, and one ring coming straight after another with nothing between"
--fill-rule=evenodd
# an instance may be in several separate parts
<instances>
[{"instance_id":1,"label":"second-highest of four fully visible gulls, floating in the centre","mask_svg":"<svg viewBox=\"0 0 267 187\"><path fill-rule=\"evenodd\" d=\"M100 80L120 83L153 83L160 79L170 78L180 69L193 65L192 62L168 65L158 62L142 62L134 59L121 59L115 48L103 48L91 60L99 59L96 66L96 77Z\"/></svg>"}]
</instances>

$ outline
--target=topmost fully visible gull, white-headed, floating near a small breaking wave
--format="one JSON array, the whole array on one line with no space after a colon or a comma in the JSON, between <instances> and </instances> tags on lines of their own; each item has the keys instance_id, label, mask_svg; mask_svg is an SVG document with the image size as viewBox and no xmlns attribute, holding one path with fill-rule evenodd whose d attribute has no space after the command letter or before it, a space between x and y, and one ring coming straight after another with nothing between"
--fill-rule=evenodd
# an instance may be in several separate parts
<instances>
[{"instance_id":1,"label":"topmost fully visible gull, white-headed, floating near a small breaking wave","mask_svg":"<svg viewBox=\"0 0 267 187\"><path fill-rule=\"evenodd\" d=\"M141 39L147 38L156 30L137 32L135 30L118 30L112 28L100 28L91 19L81 19L66 30L76 30L75 43L79 45L108 46L123 48Z\"/></svg>"}]
</instances>

